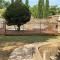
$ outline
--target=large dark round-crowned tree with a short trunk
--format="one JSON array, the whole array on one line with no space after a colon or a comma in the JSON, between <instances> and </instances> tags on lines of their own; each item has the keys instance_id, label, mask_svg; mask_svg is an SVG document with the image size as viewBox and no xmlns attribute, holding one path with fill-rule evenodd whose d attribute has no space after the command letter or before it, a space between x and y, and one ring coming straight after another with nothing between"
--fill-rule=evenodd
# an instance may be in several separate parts
<instances>
[{"instance_id":1,"label":"large dark round-crowned tree with a short trunk","mask_svg":"<svg viewBox=\"0 0 60 60\"><path fill-rule=\"evenodd\" d=\"M30 21L31 14L23 3L14 2L7 7L3 17L6 19L7 25L17 25L18 31L20 31L20 26Z\"/></svg>"}]
</instances>

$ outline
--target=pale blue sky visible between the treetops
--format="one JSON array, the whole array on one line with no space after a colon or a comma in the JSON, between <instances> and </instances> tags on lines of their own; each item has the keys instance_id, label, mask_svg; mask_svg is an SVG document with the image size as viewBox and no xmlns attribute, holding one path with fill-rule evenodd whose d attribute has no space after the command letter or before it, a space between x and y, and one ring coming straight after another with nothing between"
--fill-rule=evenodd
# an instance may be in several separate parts
<instances>
[{"instance_id":1,"label":"pale blue sky visible between the treetops","mask_svg":"<svg viewBox=\"0 0 60 60\"><path fill-rule=\"evenodd\" d=\"M6 1L10 1L10 0L6 0ZM24 2L25 0L23 0ZM29 5L33 6L38 4L38 0L29 0ZM60 7L60 0L49 0L49 4L50 5L57 5L58 7Z\"/></svg>"}]
</instances>

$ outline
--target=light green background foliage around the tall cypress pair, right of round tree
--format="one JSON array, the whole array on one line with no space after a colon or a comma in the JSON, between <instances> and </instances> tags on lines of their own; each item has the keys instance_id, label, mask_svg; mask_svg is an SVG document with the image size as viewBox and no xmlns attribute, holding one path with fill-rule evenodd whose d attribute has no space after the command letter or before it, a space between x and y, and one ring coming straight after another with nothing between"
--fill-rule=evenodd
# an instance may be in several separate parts
<instances>
[{"instance_id":1,"label":"light green background foliage around the tall cypress pair, right of round tree","mask_svg":"<svg viewBox=\"0 0 60 60\"><path fill-rule=\"evenodd\" d=\"M38 6L37 5L34 5L33 7L30 7L30 11L31 11L31 15L34 17L34 18L38 18ZM44 6L44 11L43 11L43 18L47 18L47 10L45 9L45 6ZM48 16L51 16L51 15L56 15L56 14L60 14L60 7L57 7L57 6L49 6L48 8Z\"/></svg>"}]
</instances>

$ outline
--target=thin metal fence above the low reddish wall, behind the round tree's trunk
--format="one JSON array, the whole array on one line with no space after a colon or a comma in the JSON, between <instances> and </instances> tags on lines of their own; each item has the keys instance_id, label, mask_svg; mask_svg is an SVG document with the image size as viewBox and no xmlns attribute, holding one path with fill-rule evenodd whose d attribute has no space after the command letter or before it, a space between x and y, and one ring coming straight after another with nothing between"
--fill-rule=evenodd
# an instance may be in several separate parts
<instances>
[{"instance_id":1,"label":"thin metal fence above the low reddish wall, behind the round tree's trunk","mask_svg":"<svg viewBox=\"0 0 60 60\"><path fill-rule=\"evenodd\" d=\"M20 27L21 30L56 30L56 24L55 23L27 23ZM7 26L6 30L17 30L16 25Z\"/></svg>"}]
</instances>

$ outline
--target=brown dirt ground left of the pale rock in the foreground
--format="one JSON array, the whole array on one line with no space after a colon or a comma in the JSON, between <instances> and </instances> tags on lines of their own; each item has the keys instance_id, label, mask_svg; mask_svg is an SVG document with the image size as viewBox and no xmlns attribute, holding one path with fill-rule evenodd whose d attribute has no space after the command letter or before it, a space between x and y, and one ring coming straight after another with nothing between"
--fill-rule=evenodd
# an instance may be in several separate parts
<instances>
[{"instance_id":1,"label":"brown dirt ground left of the pale rock in the foreground","mask_svg":"<svg viewBox=\"0 0 60 60\"><path fill-rule=\"evenodd\" d=\"M1 42L0 43L0 60L8 60L10 53L17 47L24 45L21 42Z\"/></svg>"}]
</instances>

